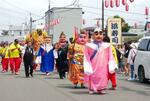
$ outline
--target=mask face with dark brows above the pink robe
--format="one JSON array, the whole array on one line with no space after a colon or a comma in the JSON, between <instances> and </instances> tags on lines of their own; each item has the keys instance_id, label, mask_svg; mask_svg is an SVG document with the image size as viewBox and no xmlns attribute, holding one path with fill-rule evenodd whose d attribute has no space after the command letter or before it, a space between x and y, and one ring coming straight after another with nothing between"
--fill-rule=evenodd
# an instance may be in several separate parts
<instances>
[{"instance_id":1,"label":"mask face with dark brows above the pink robe","mask_svg":"<svg viewBox=\"0 0 150 101\"><path fill-rule=\"evenodd\" d=\"M96 31L93 33L93 40L97 42L102 42L103 41L103 32L102 31Z\"/></svg>"}]
</instances>

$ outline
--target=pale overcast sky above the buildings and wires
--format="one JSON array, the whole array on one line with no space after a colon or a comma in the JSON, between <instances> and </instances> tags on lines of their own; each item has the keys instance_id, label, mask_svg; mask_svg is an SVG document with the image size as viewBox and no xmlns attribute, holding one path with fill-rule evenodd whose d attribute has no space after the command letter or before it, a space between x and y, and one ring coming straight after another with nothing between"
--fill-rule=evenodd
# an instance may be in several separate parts
<instances>
[{"instance_id":1,"label":"pale overcast sky above the buildings and wires","mask_svg":"<svg viewBox=\"0 0 150 101\"><path fill-rule=\"evenodd\" d=\"M48 9L48 1L49 0L0 0L0 27L21 25L25 21L29 22L30 12L33 19L41 18ZM52 8L64 7L72 4L75 0L50 1ZM96 23L94 19L101 18L101 0L80 0L79 4L85 12L83 19L85 19L86 26L94 26ZM105 9L105 20L110 16L120 15L130 25L135 22L144 24L146 21L144 9L146 6L150 8L150 0L134 0L133 3L129 3L129 6L129 12L125 12L124 6Z\"/></svg>"}]
</instances>

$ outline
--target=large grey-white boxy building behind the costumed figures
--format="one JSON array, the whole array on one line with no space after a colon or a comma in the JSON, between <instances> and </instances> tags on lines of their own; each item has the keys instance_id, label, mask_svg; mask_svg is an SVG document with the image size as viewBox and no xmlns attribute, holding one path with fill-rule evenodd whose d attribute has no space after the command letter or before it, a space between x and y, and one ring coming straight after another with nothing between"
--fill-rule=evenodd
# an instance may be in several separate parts
<instances>
[{"instance_id":1,"label":"large grey-white boxy building behind the costumed figures","mask_svg":"<svg viewBox=\"0 0 150 101\"><path fill-rule=\"evenodd\" d=\"M82 8L52 8L45 13L45 16L46 24L50 25L47 31L52 35L53 43L58 41L61 32L64 32L69 39L73 37L74 27L78 29L82 27ZM50 22L51 24L48 24Z\"/></svg>"}]
</instances>

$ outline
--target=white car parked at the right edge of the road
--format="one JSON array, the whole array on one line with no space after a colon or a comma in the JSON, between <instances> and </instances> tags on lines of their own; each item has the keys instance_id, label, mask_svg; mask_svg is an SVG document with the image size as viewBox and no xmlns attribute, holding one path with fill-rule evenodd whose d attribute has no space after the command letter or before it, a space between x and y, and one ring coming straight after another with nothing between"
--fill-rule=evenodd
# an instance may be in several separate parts
<instances>
[{"instance_id":1,"label":"white car parked at the right edge of the road","mask_svg":"<svg viewBox=\"0 0 150 101\"><path fill-rule=\"evenodd\" d=\"M135 75L140 82L150 79L150 37L142 38L134 61Z\"/></svg>"}]
</instances>

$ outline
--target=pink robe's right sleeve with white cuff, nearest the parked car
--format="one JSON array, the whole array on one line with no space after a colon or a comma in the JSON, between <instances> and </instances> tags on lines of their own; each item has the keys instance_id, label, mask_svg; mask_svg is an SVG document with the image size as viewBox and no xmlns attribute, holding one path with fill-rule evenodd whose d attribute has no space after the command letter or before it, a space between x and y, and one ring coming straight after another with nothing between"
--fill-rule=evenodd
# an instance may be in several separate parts
<instances>
[{"instance_id":1,"label":"pink robe's right sleeve with white cuff, nearest the parked car","mask_svg":"<svg viewBox=\"0 0 150 101\"><path fill-rule=\"evenodd\" d=\"M118 69L118 65L117 65L117 63L115 61L115 58L113 56L111 46L109 47L109 62L108 62L108 66L109 66L109 73L115 73L115 69Z\"/></svg>"}]
</instances>

